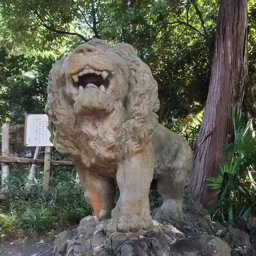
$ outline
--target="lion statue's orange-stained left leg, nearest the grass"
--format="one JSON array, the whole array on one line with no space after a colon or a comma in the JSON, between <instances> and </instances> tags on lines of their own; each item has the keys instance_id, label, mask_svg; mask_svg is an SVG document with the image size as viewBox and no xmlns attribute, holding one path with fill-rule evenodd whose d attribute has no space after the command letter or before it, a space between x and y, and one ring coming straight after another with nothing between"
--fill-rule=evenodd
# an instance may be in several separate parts
<instances>
[{"instance_id":1,"label":"lion statue's orange-stained left leg, nearest the grass","mask_svg":"<svg viewBox=\"0 0 256 256\"><path fill-rule=\"evenodd\" d=\"M93 215L99 220L110 218L114 203L114 179L83 169L77 169L77 173L84 190L84 198L93 208Z\"/></svg>"}]
</instances>

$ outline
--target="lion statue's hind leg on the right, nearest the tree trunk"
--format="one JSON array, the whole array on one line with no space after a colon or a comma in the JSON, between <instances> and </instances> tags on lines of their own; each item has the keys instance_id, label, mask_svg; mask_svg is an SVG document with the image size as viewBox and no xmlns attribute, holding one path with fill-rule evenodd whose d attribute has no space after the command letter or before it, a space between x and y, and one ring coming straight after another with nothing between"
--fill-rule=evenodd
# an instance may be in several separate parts
<instances>
[{"instance_id":1,"label":"lion statue's hind leg on the right, nearest the tree trunk","mask_svg":"<svg viewBox=\"0 0 256 256\"><path fill-rule=\"evenodd\" d=\"M173 175L163 174L157 179L157 190L163 197L161 207L153 211L157 220L167 221L180 218L182 214L183 192L185 187L186 170L180 168Z\"/></svg>"}]
</instances>

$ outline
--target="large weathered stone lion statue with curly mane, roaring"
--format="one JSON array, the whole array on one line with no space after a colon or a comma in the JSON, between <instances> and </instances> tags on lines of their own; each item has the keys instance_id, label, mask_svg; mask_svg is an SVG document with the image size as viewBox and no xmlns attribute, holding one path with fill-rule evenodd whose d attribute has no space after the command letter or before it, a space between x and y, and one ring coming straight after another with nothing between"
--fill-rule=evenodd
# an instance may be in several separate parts
<instances>
[{"instance_id":1,"label":"large weathered stone lion statue with curly mane, roaring","mask_svg":"<svg viewBox=\"0 0 256 256\"><path fill-rule=\"evenodd\" d=\"M192 153L158 123L157 82L131 45L93 39L78 46L53 65L47 93L51 141L76 166L94 216L111 218L109 232L152 227L153 180L163 197L155 218L179 216Z\"/></svg>"}]
</instances>

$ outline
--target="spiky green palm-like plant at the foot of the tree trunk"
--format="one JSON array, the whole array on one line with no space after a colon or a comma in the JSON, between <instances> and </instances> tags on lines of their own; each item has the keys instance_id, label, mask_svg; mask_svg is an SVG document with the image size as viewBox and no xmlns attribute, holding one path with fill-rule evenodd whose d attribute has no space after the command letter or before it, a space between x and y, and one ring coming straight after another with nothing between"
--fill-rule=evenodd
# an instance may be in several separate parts
<instances>
[{"instance_id":1,"label":"spiky green palm-like plant at the foot of the tree trunk","mask_svg":"<svg viewBox=\"0 0 256 256\"><path fill-rule=\"evenodd\" d=\"M224 146L226 161L220 166L218 178L208 178L209 186L219 195L219 212L224 220L248 217L256 210L256 137L249 133L250 121L245 125L241 112L232 110L233 143ZM229 152L228 152L229 150Z\"/></svg>"}]
</instances>

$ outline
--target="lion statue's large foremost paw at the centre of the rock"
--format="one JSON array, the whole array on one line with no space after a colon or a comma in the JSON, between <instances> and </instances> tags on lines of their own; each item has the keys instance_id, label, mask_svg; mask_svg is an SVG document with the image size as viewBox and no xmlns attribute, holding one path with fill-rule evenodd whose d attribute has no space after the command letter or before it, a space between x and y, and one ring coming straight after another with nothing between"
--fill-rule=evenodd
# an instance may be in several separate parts
<instances>
[{"instance_id":1,"label":"lion statue's large foremost paw at the centre of the rock","mask_svg":"<svg viewBox=\"0 0 256 256\"><path fill-rule=\"evenodd\" d=\"M147 230L153 227L153 221L150 216L142 218L137 214L124 214L121 217L112 218L108 224L108 231L127 233L137 232L141 229Z\"/></svg>"}]
</instances>

